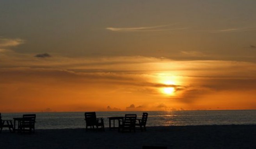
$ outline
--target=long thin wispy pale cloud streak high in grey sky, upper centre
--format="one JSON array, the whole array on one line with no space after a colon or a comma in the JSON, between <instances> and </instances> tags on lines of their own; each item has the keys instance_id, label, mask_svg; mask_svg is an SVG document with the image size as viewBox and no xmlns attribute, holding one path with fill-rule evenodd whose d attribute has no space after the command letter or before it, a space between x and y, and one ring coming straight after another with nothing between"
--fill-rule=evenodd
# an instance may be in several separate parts
<instances>
[{"instance_id":1,"label":"long thin wispy pale cloud streak high in grey sky, upper centre","mask_svg":"<svg viewBox=\"0 0 256 149\"><path fill-rule=\"evenodd\" d=\"M171 31L171 30L185 30L187 27L183 28L169 28L170 25L159 25L153 27L127 27L127 28L116 28L116 27L107 27L107 30L113 32L158 32L158 31Z\"/></svg>"}]
</instances>

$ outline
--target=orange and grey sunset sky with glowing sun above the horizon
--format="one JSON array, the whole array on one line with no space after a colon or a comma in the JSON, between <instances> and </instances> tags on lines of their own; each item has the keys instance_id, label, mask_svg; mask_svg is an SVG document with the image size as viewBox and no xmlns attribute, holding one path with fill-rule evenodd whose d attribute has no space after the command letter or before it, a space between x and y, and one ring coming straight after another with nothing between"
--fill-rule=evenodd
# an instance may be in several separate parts
<instances>
[{"instance_id":1,"label":"orange and grey sunset sky with glowing sun above the horizon","mask_svg":"<svg viewBox=\"0 0 256 149\"><path fill-rule=\"evenodd\" d=\"M256 109L256 0L0 0L0 112Z\"/></svg>"}]
</instances>

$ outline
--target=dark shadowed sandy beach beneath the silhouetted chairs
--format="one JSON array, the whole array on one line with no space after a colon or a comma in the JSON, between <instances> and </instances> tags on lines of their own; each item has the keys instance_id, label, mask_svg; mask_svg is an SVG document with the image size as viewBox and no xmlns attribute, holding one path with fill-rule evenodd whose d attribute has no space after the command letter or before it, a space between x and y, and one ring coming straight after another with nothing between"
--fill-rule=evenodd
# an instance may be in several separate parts
<instances>
[{"instance_id":1,"label":"dark shadowed sandy beach beneath the silhouetted chairs","mask_svg":"<svg viewBox=\"0 0 256 149\"><path fill-rule=\"evenodd\" d=\"M142 149L143 145L168 149L256 148L256 125L161 126L135 133L117 130L36 129L34 134L0 134L1 149Z\"/></svg>"}]
</instances>

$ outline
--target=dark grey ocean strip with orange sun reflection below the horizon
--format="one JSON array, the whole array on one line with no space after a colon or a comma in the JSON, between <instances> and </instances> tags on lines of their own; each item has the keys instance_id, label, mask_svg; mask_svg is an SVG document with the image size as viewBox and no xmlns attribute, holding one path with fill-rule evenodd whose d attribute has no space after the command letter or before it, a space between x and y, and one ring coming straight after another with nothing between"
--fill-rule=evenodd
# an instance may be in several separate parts
<instances>
[{"instance_id":1,"label":"dark grey ocean strip with orange sun reflection below the horizon","mask_svg":"<svg viewBox=\"0 0 256 149\"><path fill-rule=\"evenodd\" d=\"M256 124L256 110L147 112L147 126ZM28 113L2 113L2 119L22 117L23 114ZM41 112L33 114L36 114L36 129L85 128L84 112ZM137 118L141 118L142 111L96 112L97 117L104 118L105 127L109 125L107 117L124 116L124 114L137 114Z\"/></svg>"}]
</instances>

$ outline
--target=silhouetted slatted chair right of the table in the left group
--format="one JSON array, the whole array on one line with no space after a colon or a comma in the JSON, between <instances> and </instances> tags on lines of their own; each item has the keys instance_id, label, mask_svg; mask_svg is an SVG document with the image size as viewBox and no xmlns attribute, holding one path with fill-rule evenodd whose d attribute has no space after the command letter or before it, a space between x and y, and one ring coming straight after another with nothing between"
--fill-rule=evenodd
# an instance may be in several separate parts
<instances>
[{"instance_id":1,"label":"silhouetted slatted chair right of the table in the left group","mask_svg":"<svg viewBox=\"0 0 256 149\"><path fill-rule=\"evenodd\" d=\"M18 122L18 132L35 133L36 114L24 114L23 118Z\"/></svg>"}]
</instances>

